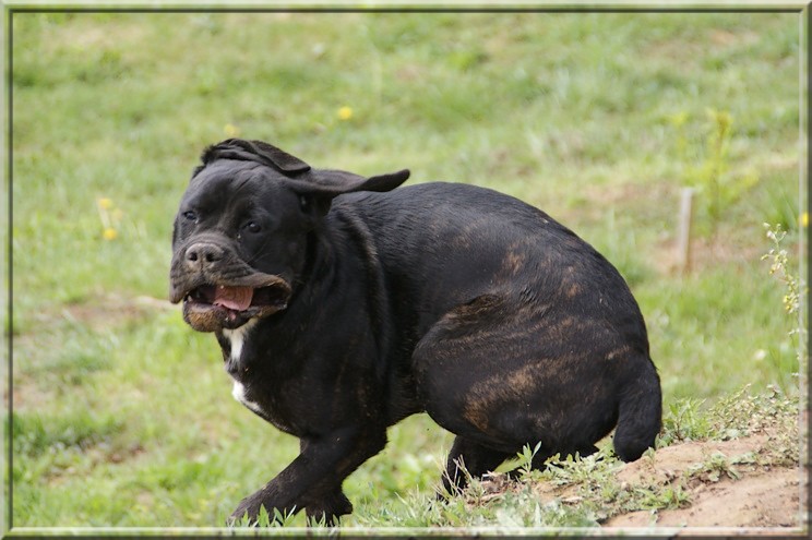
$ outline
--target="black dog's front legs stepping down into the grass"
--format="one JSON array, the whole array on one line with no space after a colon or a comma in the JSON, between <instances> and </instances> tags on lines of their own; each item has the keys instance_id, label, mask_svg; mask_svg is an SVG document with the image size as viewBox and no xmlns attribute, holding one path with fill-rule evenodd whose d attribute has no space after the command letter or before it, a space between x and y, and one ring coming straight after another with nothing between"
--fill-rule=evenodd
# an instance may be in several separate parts
<instances>
[{"instance_id":1,"label":"black dog's front legs stepping down into the grass","mask_svg":"<svg viewBox=\"0 0 812 540\"><path fill-rule=\"evenodd\" d=\"M307 507L310 518L324 516L333 524L353 509L342 493L342 482L385 445L385 428L350 428L303 440L299 456L264 488L243 499L230 521L239 523L248 514L255 525L260 507L264 506L271 517L274 509L284 514Z\"/></svg>"}]
</instances>

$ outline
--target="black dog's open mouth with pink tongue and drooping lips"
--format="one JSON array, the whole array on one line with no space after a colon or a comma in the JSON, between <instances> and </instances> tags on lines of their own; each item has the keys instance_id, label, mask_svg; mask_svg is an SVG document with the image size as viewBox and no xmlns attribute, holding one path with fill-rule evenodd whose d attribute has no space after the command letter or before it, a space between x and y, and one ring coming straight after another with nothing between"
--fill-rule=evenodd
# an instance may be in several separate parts
<instances>
[{"instance_id":1,"label":"black dog's open mouth with pink tongue and drooping lips","mask_svg":"<svg viewBox=\"0 0 812 540\"><path fill-rule=\"evenodd\" d=\"M199 332L237 328L250 319L287 308L290 288L283 280L265 287L201 285L183 297L183 319Z\"/></svg>"}]
</instances>

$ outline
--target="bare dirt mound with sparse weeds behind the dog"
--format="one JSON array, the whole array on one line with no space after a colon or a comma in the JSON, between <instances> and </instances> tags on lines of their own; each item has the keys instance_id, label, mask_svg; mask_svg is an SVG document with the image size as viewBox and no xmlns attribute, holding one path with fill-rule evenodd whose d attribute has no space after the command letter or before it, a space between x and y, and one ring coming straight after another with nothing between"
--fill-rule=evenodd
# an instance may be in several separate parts
<instances>
[{"instance_id":1,"label":"bare dirt mound with sparse weeds behind the dog","mask_svg":"<svg viewBox=\"0 0 812 540\"><path fill-rule=\"evenodd\" d=\"M631 464L597 455L568 458L520 483L506 473L489 475L479 501L507 501L529 489L525 505L538 502L586 518L563 526L592 523L616 533L684 528L680 535L802 535L809 480L798 465L798 443L793 428L769 429L727 441L677 442Z\"/></svg>"}]
</instances>

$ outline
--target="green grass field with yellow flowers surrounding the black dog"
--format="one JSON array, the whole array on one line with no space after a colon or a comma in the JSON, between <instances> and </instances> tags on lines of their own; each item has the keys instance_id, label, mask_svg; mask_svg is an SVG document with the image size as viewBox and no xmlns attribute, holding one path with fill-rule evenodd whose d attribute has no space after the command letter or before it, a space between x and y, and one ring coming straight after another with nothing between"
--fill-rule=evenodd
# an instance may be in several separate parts
<instances>
[{"instance_id":1,"label":"green grass field with yellow flowers surrounding the black dog","mask_svg":"<svg viewBox=\"0 0 812 540\"><path fill-rule=\"evenodd\" d=\"M541 207L629 280L666 407L797 387L797 323L761 256L765 221L789 231L790 267L805 250L798 14L11 23L14 527L222 526L296 456L231 398L214 338L166 301L180 195L203 147L232 135ZM423 416L391 429L345 483L344 525L403 523L402 497L431 493L450 444Z\"/></svg>"}]
</instances>

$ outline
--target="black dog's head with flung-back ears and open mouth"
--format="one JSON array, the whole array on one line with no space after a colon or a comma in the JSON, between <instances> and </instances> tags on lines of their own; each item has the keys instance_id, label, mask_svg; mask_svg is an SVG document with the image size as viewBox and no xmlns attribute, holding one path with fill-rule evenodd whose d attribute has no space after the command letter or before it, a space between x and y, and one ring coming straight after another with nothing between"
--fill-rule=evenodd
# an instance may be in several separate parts
<instances>
[{"instance_id":1,"label":"black dog's head with flung-back ears and open mouth","mask_svg":"<svg viewBox=\"0 0 812 540\"><path fill-rule=\"evenodd\" d=\"M287 308L306 264L308 236L332 200L390 191L408 170L363 178L313 169L260 141L206 148L172 233L170 300L200 332L237 328Z\"/></svg>"}]
</instances>

